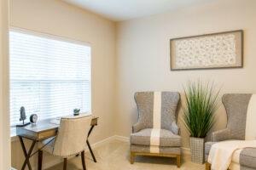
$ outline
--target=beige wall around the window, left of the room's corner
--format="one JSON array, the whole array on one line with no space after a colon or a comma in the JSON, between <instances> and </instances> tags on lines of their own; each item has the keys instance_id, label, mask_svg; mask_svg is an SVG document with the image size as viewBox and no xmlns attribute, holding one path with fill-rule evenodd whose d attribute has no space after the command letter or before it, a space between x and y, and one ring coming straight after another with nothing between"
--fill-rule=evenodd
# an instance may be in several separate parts
<instances>
[{"instance_id":1,"label":"beige wall around the window, left of the room's corner","mask_svg":"<svg viewBox=\"0 0 256 170\"><path fill-rule=\"evenodd\" d=\"M113 136L115 23L59 0L10 0L10 26L90 42L92 112L100 117L90 143ZM23 159L19 141L13 142L12 164L20 169Z\"/></svg>"}]
</instances>

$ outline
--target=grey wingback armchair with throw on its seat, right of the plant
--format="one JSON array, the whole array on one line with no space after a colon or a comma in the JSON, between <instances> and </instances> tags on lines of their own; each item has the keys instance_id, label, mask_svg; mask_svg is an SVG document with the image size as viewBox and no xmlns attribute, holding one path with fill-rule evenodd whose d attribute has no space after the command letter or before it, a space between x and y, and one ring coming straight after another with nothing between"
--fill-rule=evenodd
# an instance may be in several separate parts
<instances>
[{"instance_id":1,"label":"grey wingback armchair with throw on its seat, right of the plant","mask_svg":"<svg viewBox=\"0 0 256 170\"><path fill-rule=\"evenodd\" d=\"M206 159L212 162L212 156L209 154L216 150L217 144L227 141L227 146L224 147L224 153L227 153L227 148L232 146L230 142L238 142L238 146L232 146L236 148L230 153L229 169L254 170L256 169L256 94L224 94L223 103L228 116L227 127L212 133L213 142L206 143ZM251 142L254 142L253 145L247 144Z\"/></svg>"}]
</instances>

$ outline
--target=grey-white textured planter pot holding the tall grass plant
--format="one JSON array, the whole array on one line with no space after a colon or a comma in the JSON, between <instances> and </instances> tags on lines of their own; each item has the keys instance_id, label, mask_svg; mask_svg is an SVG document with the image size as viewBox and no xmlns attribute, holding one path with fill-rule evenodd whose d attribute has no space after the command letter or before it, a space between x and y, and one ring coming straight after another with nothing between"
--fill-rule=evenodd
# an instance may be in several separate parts
<instances>
[{"instance_id":1,"label":"grey-white textured planter pot holding the tall grass plant","mask_svg":"<svg viewBox=\"0 0 256 170\"><path fill-rule=\"evenodd\" d=\"M205 162L205 139L190 137L191 161L203 164Z\"/></svg>"}]
</instances>

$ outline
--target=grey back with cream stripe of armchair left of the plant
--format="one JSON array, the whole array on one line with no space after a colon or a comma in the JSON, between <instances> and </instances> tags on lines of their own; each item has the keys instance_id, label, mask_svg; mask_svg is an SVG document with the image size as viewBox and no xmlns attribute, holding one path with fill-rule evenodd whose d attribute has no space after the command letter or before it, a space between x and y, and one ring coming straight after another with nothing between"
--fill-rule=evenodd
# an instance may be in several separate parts
<instances>
[{"instance_id":1,"label":"grey back with cream stripe of armchair left of the plant","mask_svg":"<svg viewBox=\"0 0 256 170\"><path fill-rule=\"evenodd\" d=\"M171 130L176 122L180 99L177 92L137 92L134 95L138 110L138 123L142 128Z\"/></svg>"}]
</instances>

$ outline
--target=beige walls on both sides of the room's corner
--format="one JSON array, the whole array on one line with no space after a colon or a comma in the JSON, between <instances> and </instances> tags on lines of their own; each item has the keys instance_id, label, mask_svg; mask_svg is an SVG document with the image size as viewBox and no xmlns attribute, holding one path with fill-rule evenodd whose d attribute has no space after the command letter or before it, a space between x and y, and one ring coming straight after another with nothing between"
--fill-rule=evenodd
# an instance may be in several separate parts
<instances>
[{"instance_id":1,"label":"beige walls on both sides of the room's corner","mask_svg":"<svg viewBox=\"0 0 256 170\"><path fill-rule=\"evenodd\" d=\"M90 141L96 143L114 134L129 137L131 125L137 120L133 99L137 91L182 92L188 80L200 78L216 82L222 87L221 94L256 93L255 8L254 0L218 0L120 22L116 30L112 21L58 0L10 0L10 25L91 43L92 111L100 120ZM170 38L238 29L244 30L245 36L244 68L170 71ZM223 106L217 114L214 129L226 123ZM181 116L179 111L183 146L189 147ZM49 159L47 156L46 161ZM19 142L12 142L12 164L20 168L21 161Z\"/></svg>"}]
</instances>

